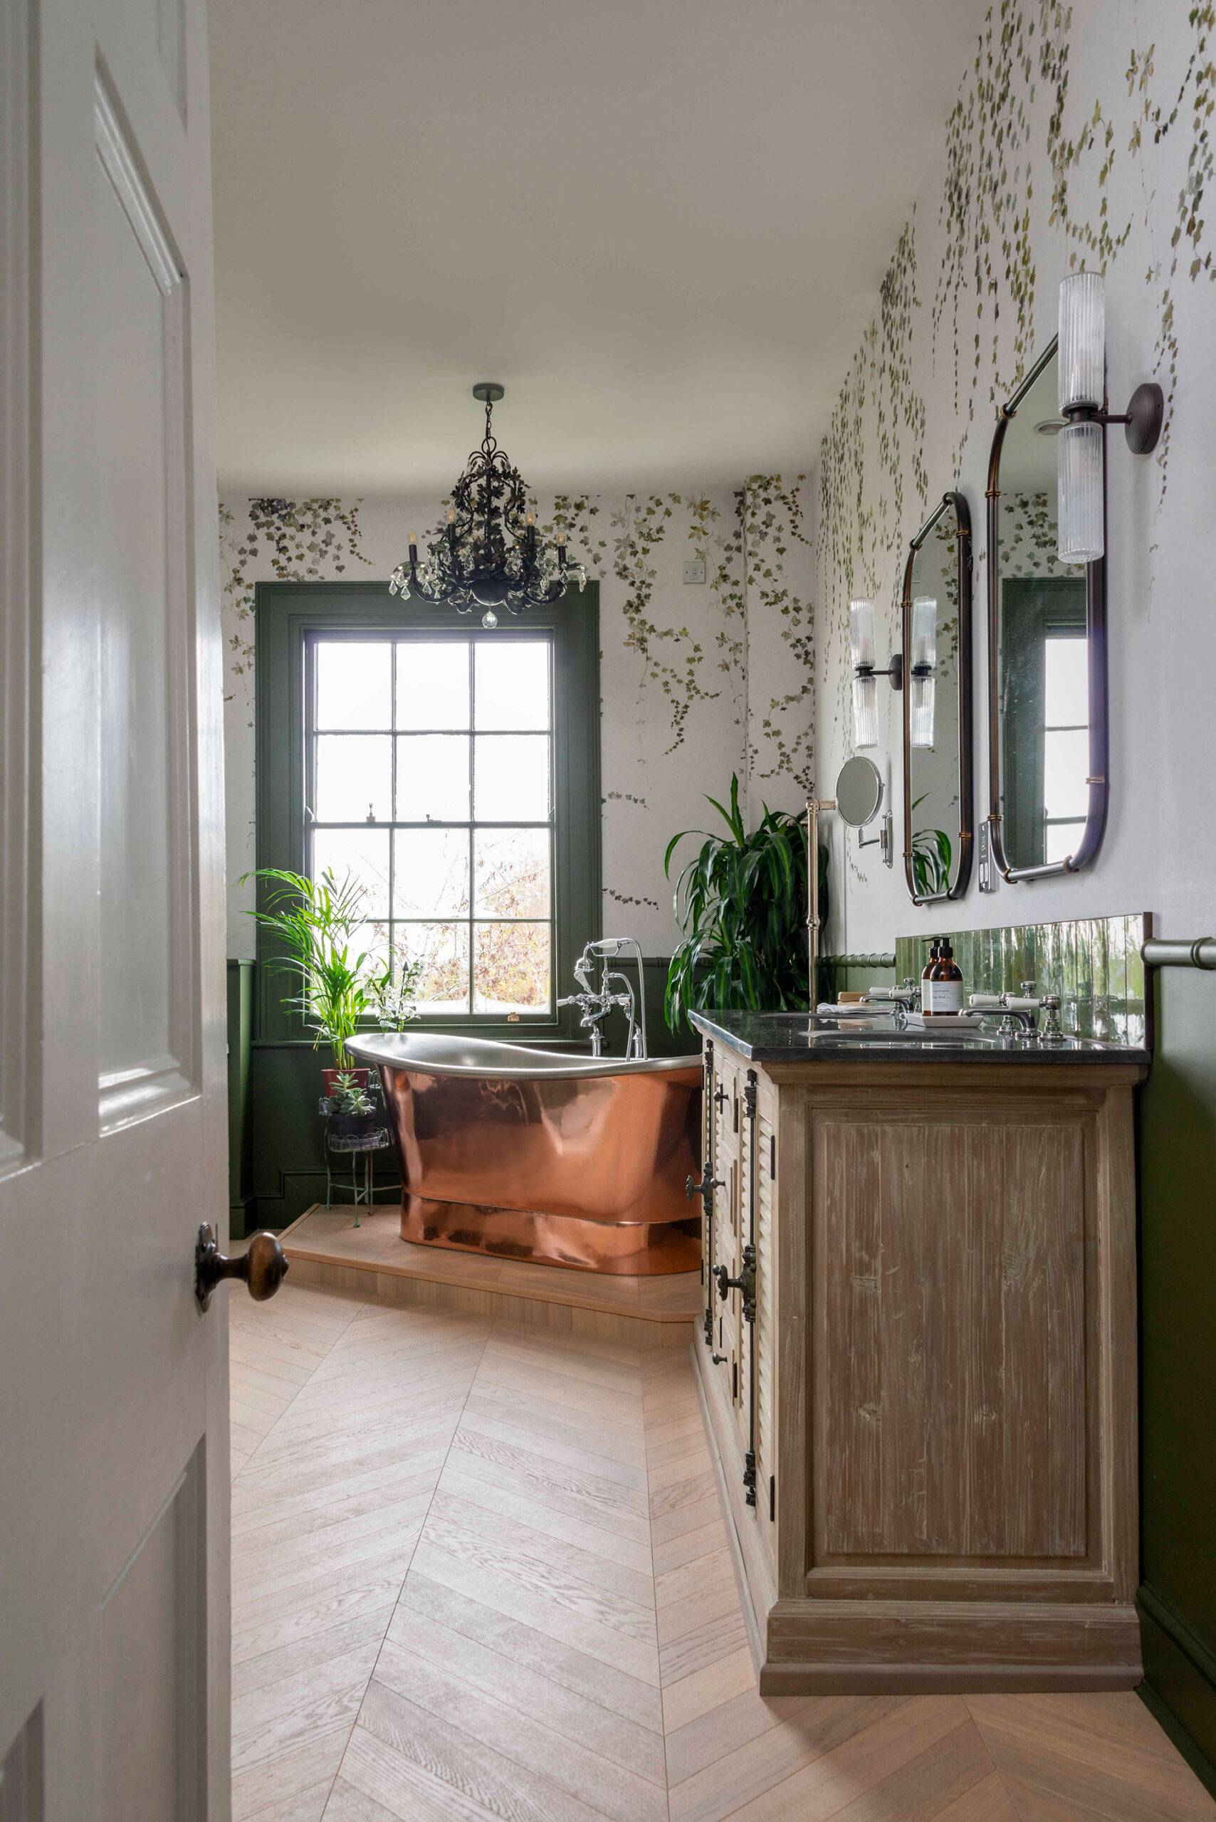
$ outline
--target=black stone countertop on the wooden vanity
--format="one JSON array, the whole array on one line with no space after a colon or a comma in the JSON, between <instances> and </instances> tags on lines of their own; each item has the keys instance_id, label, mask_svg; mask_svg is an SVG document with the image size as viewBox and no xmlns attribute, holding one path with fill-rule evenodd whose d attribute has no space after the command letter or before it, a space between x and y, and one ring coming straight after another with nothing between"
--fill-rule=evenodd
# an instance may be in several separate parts
<instances>
[{"instance_id":1,"label":"black stone countertop on the wooden vanity","mask_svg":"<svg viewBox=\"0 0 1216 1822\"><path fill-rule=\"evenodd\" d=\"M1097 1039L1068 1037L1057 1044L1017 1044L984 1031L897 1031L890 1015L837 1020L809 1013L689 1013L704 1035L729 1044L749 1062L1149 1062L1149 1051Z\"/></svg>"}]
</instances>

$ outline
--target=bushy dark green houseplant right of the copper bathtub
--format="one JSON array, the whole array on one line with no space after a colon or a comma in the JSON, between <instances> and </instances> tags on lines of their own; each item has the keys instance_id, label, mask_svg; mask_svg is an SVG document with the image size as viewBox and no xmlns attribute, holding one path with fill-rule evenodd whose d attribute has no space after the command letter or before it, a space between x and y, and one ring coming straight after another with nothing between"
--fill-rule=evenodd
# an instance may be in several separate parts
<instances>
[{"instance_id":1,"label":"bushy dark green houseplant right of the copper bathtub","mask_svg":"<svg viewBox=\"0 0 1216 1822\"><path fill-rule=\"evenodd\" d=\"M664 871L687 836L702 834L675 891L682 940L667 969L664 1009L676 1031L689 1011L804 1011L806 824L769 809L747 833L731 776L731 807L707 796L727 834L684 829L667 844ZM828 849L819 851L819 907L828 916Z\"/></svg>"}]
</instances>

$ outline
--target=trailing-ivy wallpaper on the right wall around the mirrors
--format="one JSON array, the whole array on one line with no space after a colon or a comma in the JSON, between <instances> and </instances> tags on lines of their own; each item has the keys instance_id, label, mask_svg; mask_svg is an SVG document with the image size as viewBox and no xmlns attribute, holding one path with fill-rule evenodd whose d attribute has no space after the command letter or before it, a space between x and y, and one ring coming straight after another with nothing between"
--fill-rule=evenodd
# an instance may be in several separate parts
<instances>
[{"instance_id":1,"label":"trailing-ivy wallpaper on the right wall around the mirrors","mask_svg":"<svg viewBox=\"0 0 1216 1822\"><path fill-rule=\"evenodd\" d=\"M1150 459L1132 457L1118 430L1108 435L1112 805L1103 851L1076 878L1003 885L999 915L974 882L950 913L959 927L1143 909L1163 924L1211 922L1216 862L1161 780L1211 780L1212 763L1211 709L1192 661L1203 672L1216 660L1207 432L1216 268L1205 226L1214 107L1212 4L995 0L813 463L820 785L830 793L851 751L848 601L877 601L884 661L899 643L908 539L959 486L975 547L983 816L988 446L999 403L1056 332L1065 271L1107 275L1110 408L1121 410L1141 379L1165 388L1165 434ZM1026 496L1019 505L1030 554L1052 539L1050 503ZM890 691L881 714L877 758L899 811L899 698ZM899 864L884 869L877 849L860 855L835 825L831 845L833 947L890 947L895 933L941 926L941 909L912 909Z\"/></svg>"}]
</instances>

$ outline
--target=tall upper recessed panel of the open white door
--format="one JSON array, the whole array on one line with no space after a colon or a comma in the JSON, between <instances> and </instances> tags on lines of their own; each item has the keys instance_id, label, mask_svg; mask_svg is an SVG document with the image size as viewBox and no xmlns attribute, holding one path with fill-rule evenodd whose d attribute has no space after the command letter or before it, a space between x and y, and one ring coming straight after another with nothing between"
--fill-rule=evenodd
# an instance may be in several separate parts
<instances>
[{"instance_id":1,"label":"tall upper recessed panel of the open white door","mask_svg":"<svg viewBox=\"0 0 1216 1822\"><path fill-rule=\"evenodd\" d=\"M186 372L177 261L102 84L95 93L100 587L100 1121L193 1075Z\"/></svg>"}]
</instances>

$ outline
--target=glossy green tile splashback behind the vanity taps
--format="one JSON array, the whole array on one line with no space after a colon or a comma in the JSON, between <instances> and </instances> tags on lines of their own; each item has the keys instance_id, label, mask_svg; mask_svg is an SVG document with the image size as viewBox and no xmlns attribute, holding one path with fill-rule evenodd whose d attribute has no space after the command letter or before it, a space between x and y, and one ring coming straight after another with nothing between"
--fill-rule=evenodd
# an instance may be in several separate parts
<instances>
[{"instance_id":1,"label":"glossy green tile splashback behind the vanity taps","mask_svg":"<svg viewBox=\"0 0 1216 1822\"><path fill-rule=\"evenodd\" d=\"M1017 993L1034 980L1059 993L1059 1022L1077 1037L1139 1048L1147 1042L1145 964L1149 916L1081 918L1068 924L1014 924L950 931L964 993ZM899 937L895 978L921 978L930 937Z\"/></svg>"}]
</instances>

